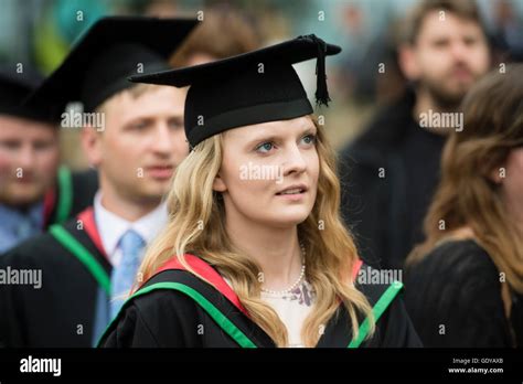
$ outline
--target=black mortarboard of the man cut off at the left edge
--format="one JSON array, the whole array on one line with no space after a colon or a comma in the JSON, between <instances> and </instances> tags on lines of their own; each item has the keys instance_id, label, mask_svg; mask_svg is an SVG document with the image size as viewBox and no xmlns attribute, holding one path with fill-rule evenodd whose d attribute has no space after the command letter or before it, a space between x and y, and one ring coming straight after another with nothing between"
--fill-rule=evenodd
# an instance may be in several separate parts
<instances>
[{"instance_id":1,"label":"black mortarboard of the man cut off at the left edge","mask_svg":"<svg viewBox=\"0 0 523 384\"><path fill-rule=\"evenodd\" d=\"M43 76L26 65L2 65L0 68L0 115L18 116L46 122L45 111L22 105L28 95L43 81Z\"/></svg>"}]
</instances>

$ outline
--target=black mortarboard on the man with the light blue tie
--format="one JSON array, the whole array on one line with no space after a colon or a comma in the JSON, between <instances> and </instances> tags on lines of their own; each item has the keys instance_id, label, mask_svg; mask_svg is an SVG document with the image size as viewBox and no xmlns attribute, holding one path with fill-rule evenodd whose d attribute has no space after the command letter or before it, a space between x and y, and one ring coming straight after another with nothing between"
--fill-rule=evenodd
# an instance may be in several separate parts
<instances>
[{"instance_id":1,"label":"black mortarboard on the man with the light blue tie","mask_svg":"<svg viewBox=\"0 0 523 384\"><path fill-rule=\"evenodd\" d=\"M79 102L84 111L93 111L110 96L131 87L129 76L169 68L167 58L196 24L196 20L189 19L100 19L26 104L46 106L55 119L71 102Z\"/></svg>"}]
</instances>

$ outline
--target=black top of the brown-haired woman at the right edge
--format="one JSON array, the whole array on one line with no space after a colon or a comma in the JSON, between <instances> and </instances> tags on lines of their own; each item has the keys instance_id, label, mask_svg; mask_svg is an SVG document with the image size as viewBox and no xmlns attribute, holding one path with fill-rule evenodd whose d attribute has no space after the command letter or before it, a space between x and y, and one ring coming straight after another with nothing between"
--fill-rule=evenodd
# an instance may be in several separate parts
<instances>
[{"instance_id":1,"label":"black top of the brown-haired woman at the right edge","mask_svg":"<svg viewBox=\"0 0 523 384\"><path fill-rule=\"evenodd\" d=\"M511 346L500 274L474 241L442 243L406 271L406 307L425 346Z\"/></svg>"}]
</instances>

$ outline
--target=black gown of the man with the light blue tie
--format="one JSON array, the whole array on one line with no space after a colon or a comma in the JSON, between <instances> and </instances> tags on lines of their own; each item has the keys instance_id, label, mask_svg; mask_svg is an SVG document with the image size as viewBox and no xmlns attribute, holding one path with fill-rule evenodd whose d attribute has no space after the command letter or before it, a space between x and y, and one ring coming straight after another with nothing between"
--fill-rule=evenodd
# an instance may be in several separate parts
<instances>
[{"instance_id":1,"label":"black gown of the man with the light blue tie","mask_svg":"<svg viewBox=\"0 0 523 384\"><path fill-rule=\"evenodd\" d=\"M89 236L87 225L77 230L77 217L62 228L110 276L99 236ZM51 233L26 241L0 257L0 269L42 271L40 289L32 285L0 285L0 346L93 346L99 284Z\"/></svg>"}]
</instances>

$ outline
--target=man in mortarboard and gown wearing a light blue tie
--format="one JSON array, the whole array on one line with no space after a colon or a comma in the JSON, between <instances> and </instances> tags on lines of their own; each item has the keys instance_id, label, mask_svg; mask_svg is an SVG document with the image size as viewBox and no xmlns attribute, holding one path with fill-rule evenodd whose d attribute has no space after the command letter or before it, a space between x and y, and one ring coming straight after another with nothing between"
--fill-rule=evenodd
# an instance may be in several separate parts
<instances>
[{"instance_id":1,"label":"man in mortarboard and gown wearing a light blue tie","mask_svg":"<svg viewBox=\"0 0 523 384\"><path fill-rule=\"evenodd\" d=\"M196 23L104 18L26 100L61 117L63 127L75 120L63 113L66 104L77 102L74 114L83 110L86 125L82 143L100 188L93 206L0 260L0 269L41 270L32 286L1 288L0 344L93 346L121 306L145 246L167 222L162 196L189 152L185 90L127 77L168 68Z\"/></svg>"}]
</instances>

